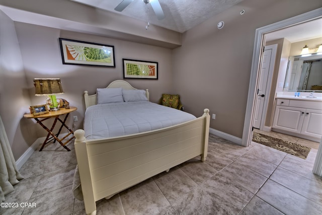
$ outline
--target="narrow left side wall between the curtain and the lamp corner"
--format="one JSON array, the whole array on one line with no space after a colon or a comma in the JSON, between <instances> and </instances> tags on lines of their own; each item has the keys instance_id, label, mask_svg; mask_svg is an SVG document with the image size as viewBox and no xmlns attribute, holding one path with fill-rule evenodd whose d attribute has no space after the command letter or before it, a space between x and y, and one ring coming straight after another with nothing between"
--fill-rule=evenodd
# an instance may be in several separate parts
<instances>
[{"instance_id":1,"label":"narrow left side wall between the curtain and the lamp corner","mask_svg":"<svg viewBox=\"0 0 322 215\"><path fill-rule=\"evenodd\" d=\"M37 139L23 118L30 99L14 22L0 11L0 115L17 160Z\"/></svg>"}]
</instances>

